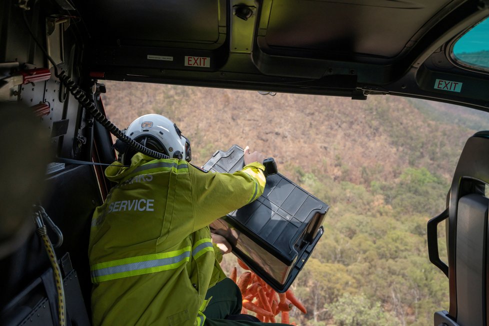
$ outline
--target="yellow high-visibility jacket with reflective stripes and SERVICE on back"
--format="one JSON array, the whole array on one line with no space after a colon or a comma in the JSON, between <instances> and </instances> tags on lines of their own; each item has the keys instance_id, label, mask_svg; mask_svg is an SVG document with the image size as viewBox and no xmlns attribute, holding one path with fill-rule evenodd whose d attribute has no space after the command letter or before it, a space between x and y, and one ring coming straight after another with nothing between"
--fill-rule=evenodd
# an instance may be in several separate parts
<instances>
[{"instance_id":1,"label":"yellow high-visibility jacket with reflective stripes and SERVICE on back","mask_svg":"<svg viewBox=\"0 0 489 326\"><path fill-rule=\"evenodd\" d=\"M207 289L225 277L208 225L262 194L263 169L206 173L141 153L107 167L117 184L93 213L88 247L93 324L203 324Z\"/></svg>"}]
</instances>

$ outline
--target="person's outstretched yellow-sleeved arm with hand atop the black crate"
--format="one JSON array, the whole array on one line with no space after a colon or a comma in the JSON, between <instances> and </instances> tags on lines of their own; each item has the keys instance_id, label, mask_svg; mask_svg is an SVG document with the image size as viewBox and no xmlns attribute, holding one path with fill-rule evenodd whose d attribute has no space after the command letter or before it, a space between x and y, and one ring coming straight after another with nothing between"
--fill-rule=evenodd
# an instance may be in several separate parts
<instances>
[{"instance_id":1,"label":"person's outstretched yellow-sleeved arm with hand atop the black crate","mask_svg":"<svg viewBox=\"0 0 489 326\"><path fill-rule=\"evenodd\" d=\"M249 153L244 149L245 166L232 174L204 173L192 168L192 202L197 230L209 225L215 219L255 200L265 187L263 155ZM190 168L190 166L189 166Z\"/></svg>"}]
</instances>

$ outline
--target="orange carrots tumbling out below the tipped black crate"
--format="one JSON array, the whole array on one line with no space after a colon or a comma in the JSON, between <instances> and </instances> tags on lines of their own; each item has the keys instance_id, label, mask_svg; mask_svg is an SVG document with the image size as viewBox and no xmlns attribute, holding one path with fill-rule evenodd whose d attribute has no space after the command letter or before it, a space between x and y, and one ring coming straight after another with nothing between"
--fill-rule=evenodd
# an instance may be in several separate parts
<instances>
[{"instance_id":1,"label":"orange carrots tumbling out below the tipped black crate","mask_svg":"<svg viewBox=\"0 0 489 326\"><path fill-rule=\"evenodd\" d=\"M241 313L252 311L262 322L276 322L275 316L280 314L280 322L286 324L290 324L288 312L294 305L303 313L307 313L304 305L295 297L291 289L285 293L277 293L258 275L250 271L244 262L240 259L237 259L237 262L241 268L247 270L237 278L237 268L233 267L229 275L241 291L243 298Z\"/></svg>"}]
</instances>

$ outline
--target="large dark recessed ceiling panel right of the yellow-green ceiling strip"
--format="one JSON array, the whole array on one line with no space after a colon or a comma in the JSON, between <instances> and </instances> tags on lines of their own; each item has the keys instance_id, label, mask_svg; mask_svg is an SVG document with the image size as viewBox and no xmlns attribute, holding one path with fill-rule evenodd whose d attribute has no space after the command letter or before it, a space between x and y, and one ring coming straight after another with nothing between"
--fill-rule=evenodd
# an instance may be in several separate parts
<instances>
[{"instance_id":1,"label":"large dark recessed ceiling panel right of the yellow-green ceiling strip","mask_svg":"<svg viewBox=\"0 0 489 326\"><path fill-rule=\"evenodd\" d=\"M274 1L265 39L269 46L394 57L449 2Z\"/></svg>"}]
</instances>

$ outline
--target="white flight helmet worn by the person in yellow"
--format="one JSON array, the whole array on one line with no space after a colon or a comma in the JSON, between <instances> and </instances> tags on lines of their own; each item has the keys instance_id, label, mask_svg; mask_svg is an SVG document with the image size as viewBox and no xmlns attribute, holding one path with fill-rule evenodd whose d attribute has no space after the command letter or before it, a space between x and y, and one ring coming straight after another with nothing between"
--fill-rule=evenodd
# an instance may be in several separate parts
<instances>
[{"instance_id":1,"label":"white flight helmet worn by the person in yellow","mask_svg":"<svg viewBox=\"0 0 489 326\"><path fill-rule=\"evenodd\" d=\"M125 134L145 147L154 149L172 158L192 158L190 141L185 138L180 129L170 119L159 114L145 114L134 121L124 130ZM122 151L121 161L130 164L135 150Z\"/></svg>"}]
</instances>

